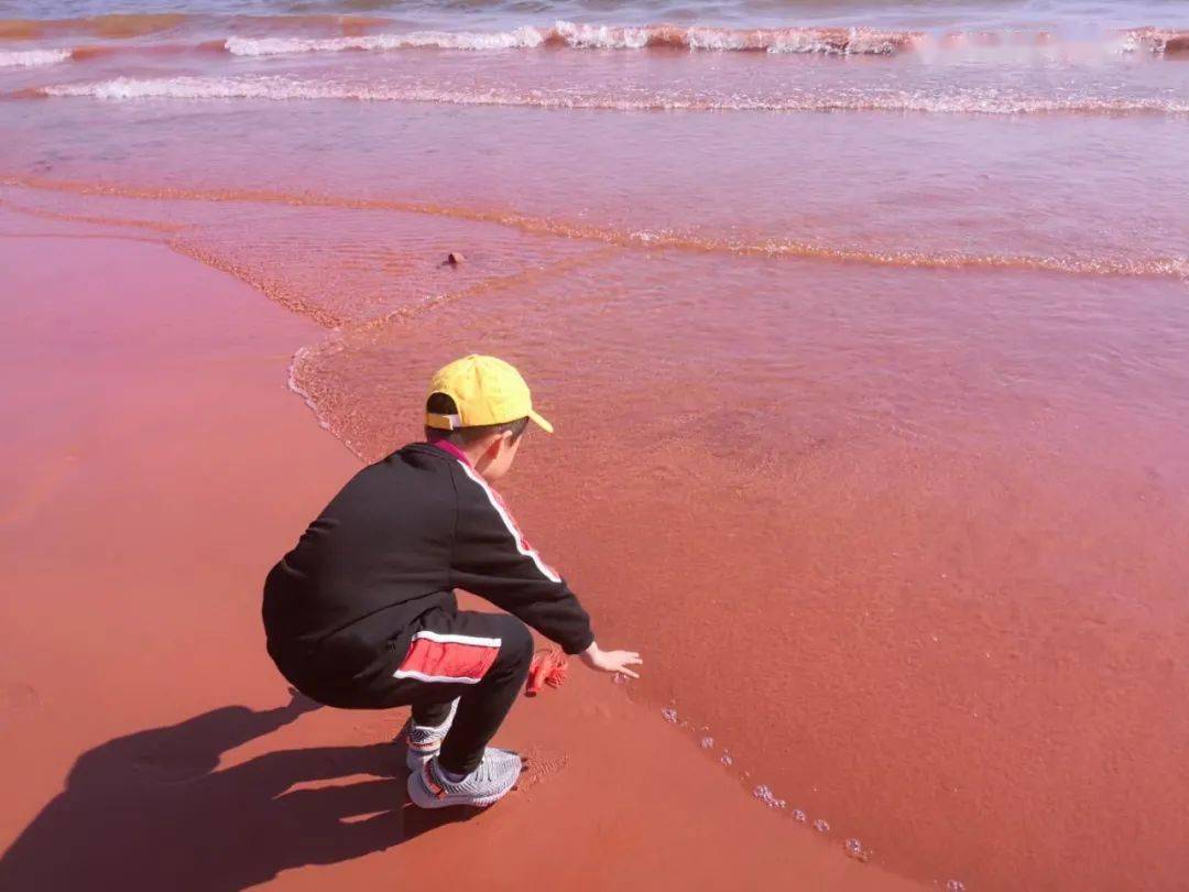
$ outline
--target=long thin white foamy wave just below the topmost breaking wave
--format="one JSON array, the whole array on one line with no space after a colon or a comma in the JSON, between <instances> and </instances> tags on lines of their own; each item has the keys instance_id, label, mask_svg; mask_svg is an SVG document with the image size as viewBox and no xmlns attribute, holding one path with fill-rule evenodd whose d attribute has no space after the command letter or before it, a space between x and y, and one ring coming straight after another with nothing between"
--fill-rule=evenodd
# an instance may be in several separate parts
<instances>
[{"instance_id":1,"label":"long thin white foamy wave just below the topmost breaking wave","mask_svg":"<svg viewBox=\"0 0 1189 892\"><path fill-rule=\"evenodd\" d=\"M436 87L361 86L300 81L287 77L117 77L25 90L25 96L74 96L120 100L357 100L424 102L459 106L591 108L614 112L919 112L933 114L1189 114L1189 98L1061 98L1011 95L1000 89L955 89L949 93L822 93L774 98L703 96L655 93L622 96L599 93L543 93L510 89L442 89Z\"/></svg>"}]
</instances>

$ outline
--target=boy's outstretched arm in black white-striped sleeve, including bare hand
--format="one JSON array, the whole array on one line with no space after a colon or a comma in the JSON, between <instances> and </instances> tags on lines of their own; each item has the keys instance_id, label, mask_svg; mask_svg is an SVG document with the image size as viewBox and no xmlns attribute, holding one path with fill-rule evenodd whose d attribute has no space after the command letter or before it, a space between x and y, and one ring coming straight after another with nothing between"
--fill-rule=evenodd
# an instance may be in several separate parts
<instances>
[{"instance_id":1,"label":"boy's outstretched arm in black white-striped sleeve, including bare hand","mask_svg":"<svg viewBox=\"0 0 1189 892\"><path fill-rule=\"evenodd\" d=\"M470 467L461 471L451 584L523 620L591 668L638 678L628 667L641 664L640 654L598 647L577 596L528 544L499 495Z\"/></svg>"}]
</instances>

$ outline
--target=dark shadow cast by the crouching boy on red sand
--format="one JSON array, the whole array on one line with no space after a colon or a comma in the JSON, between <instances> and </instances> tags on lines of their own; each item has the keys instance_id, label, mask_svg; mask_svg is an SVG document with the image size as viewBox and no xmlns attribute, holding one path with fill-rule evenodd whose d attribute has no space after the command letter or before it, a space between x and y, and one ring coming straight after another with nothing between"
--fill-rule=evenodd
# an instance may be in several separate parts
<instances>
[{"instance_id":1,"label":"dark shadow cast by the crouching boy on red sand","mask_svg":"<svg viewBox=\"0 0 1189 892\"><path fill-rule=\"evenodd\" d=\"M312 709L300 696L260 712L224 706L84 753L0 859L0 888L239 892L477 814L409 805L404 748L388 742L279 750L216 769L222 753Z\"/></svg>"}]
</instances>

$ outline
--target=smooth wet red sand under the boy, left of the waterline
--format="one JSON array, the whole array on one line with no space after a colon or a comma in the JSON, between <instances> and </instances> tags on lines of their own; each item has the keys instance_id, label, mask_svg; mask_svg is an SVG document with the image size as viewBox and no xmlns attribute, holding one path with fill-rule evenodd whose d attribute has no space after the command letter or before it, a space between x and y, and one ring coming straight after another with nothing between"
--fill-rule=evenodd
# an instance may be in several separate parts
<instances>
[{"instance_id":1,"label":"smooth wet red sand under the boy, left of the waterline","mask_svg":"<svg viewBox=\"0 0 1189 892\"><path fill-rule=\"evenodd\" d=\"M46 233L0 237L0 887L912 887L579 670L501 736L520 792L405 806L403 714L285 708L259 628L358 464L284 387L317 329L164 246L0 222Z\"/></svg>"}]
</instances>

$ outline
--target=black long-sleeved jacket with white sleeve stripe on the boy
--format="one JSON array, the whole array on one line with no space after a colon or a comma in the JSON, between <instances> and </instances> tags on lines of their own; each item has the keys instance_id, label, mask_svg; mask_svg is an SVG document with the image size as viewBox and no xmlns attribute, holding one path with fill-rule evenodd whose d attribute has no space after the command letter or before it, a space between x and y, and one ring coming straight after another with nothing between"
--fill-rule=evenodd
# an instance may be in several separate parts
<instances>
[{"instance_id":1,"label":"black long-sleeved jacket with white sleeve stripe on the boy","mask_svg":"<svg viewBox=\"0 0 1189 892\"><path fill-rule=\"evenodd\" d=\"M379 651L403 652L409 624L453 607L455 588L566 653L594 640L578 598L498 494L461 459L413 444L357 473L272 567L264 584L269 653L282 671L357 674Z\"/></svg>"}]
</instances>

